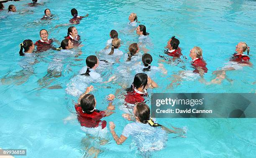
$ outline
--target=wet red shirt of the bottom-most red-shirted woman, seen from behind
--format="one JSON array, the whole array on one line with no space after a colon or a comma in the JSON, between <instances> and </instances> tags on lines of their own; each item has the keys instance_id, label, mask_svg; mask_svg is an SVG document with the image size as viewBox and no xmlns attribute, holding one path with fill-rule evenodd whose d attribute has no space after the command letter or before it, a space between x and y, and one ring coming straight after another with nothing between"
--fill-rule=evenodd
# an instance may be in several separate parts
<instances>
[{"instance_id":1,"label":"wet red shirt of the bottom-most red-shirted woman, seen from behind","mask_svg":"<svg viewBox=\"0 0 256 158\"><path fill-rule=\"evenodd\" d=\"M105 120L100 120L106 116L105 111L95 109L90 114L83 113L80 104L76 104L75 109L77 111L77 120L79 121L81 126L95 128L100 125L102 129L106 127L107 122Z\"/></svg>"}]
</instances>

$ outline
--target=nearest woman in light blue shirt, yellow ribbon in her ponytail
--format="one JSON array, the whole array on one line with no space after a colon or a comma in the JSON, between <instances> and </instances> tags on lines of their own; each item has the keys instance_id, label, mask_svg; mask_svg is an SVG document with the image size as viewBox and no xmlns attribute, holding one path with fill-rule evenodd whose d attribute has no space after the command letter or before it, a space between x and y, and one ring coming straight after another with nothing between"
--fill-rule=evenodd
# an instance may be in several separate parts
<instances>
[{"instance_id":1,"label":"nearest woman in light blue shirt, yellow ribbon in her ponytail","mask_svg":"<svg viewBox=\"0 0 256 158\"><path fill-rule=\"evenodd\" d=\"M142 152L156 151L166 146L167 133L185 133L180 128L172 127L174 130L171 130L163 125L154 123L154 120L150 118L150 108L145 103L137 103L133 114L136 122L126 125L120 137L115 133L115 124L110 122L111 133L118 145L122 144L131 135L138 150ZM123 117L131 120L129 115L123 115Z\"/></svg>"}]
</instances>

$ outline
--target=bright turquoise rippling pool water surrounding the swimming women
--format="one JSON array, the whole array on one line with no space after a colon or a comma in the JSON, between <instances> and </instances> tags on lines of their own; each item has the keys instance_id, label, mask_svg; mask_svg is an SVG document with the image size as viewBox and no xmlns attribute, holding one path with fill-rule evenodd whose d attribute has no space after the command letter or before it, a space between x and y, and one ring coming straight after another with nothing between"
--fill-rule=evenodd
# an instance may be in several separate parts
<instances>
[{"instance_id":1,"label":"bright turquoise rippling pool water surrounding the swimming women","mask_svg":"<svg viewBox=\"0 0 256 158\"><path fill-rule=\"evenodd\" d=\"M105 47L110 30L115 29L122 40L120 50L128 51L128 45L138 42L138 35L128 28L128 16L134 12L138 21L146 25L150 33L150 43L146 45L148 53L153 56L152 65L159 61L164 47L172 35L180 40L183 63L167 64L167 75L155 74L159 88L149 90L150 93L256 93L255 68L244 67L242 70L227 73L229 80L220 85L205 85L198 80L184 80L180 85L169 88L171 76L185 67L190 68L189 50L197 45L203 50L207 62L208 73L205 80L210 81L217 70L228 62L238 42L244 41L251 47L251 63L256 65L254 50L256 49L256 2L253 0L181 0L181 1L139 1L121 0L79 1L48 0L44 6L28 8L29 0L5 3L5 10L0 11L0 78L4 79L0 88L0 148L27 149L27 157L83 157L84 138L76 119L65 122L64 119L75 114L74 103L77 97L65 93L67 84L85 65L88 55L95 55ZM22 14L8 15L8 5L14 4ZM46 8L55 15L53 20L41 21ZM56 25L69 23L70 10L76 8L79 15L89 13L79 25L75 25L82 38L83 47L75 48L82 52L78 57L71 56L63 61L62 75L49 78L46 83L39 84L47 74L48 65L56 57L57 51L48 50L36 54L31 70L21 71L19 43L25 39L33 42L39 40L39 31L48 30L49 38L61 41L67 35L68 26L55 28ZM27 11L26 11L27 10ZM57 45L57 44L56 44ZM143 51L141 51L143 52ZM123 62L123 58L120 61ZM115 73L119 64L113 69L102 70L103 80ZM23 76L23 77L20 77ZM49 89L51 86L59 89ZM129 123L121 116L124 90L113 83L92 83L92 92L97 99L97 108L105 109L105 96L116 93L116 110L105 118L114 121L116 132L121 134L123 127ZM118 90L118 92L116 92ZM158 122L170 127L187 128L187 138L172 138L169 135L166 148L152 153L153 157L247 157L256 155L256 119L158 119ZM131 142L131 138L116 145L112 136L108 143L101 145L98 157L141 157ZM98 144L99 140L91 140ZM18 157L18 156L17 156ZM20 156L21 157L21 156Z\"/></svg>"}]
</instances>

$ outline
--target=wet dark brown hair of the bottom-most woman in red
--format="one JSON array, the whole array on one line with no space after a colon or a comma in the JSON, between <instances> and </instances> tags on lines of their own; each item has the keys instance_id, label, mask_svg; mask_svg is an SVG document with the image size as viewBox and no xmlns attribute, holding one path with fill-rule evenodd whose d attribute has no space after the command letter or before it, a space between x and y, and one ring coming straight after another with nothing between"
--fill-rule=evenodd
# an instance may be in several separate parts
<instances>
[{"instance_id":1,"label":"wet dark brown hair of the bottom-most woman in red","mask_svg":"<svg viewBox=\"0 0 256 158\"><path fill-rule=\"evenodd\" d=\"M84 113L92 113L95 107L95 98L93 94L86 94L80 101Z\"/></svg>"}]
</instances>

